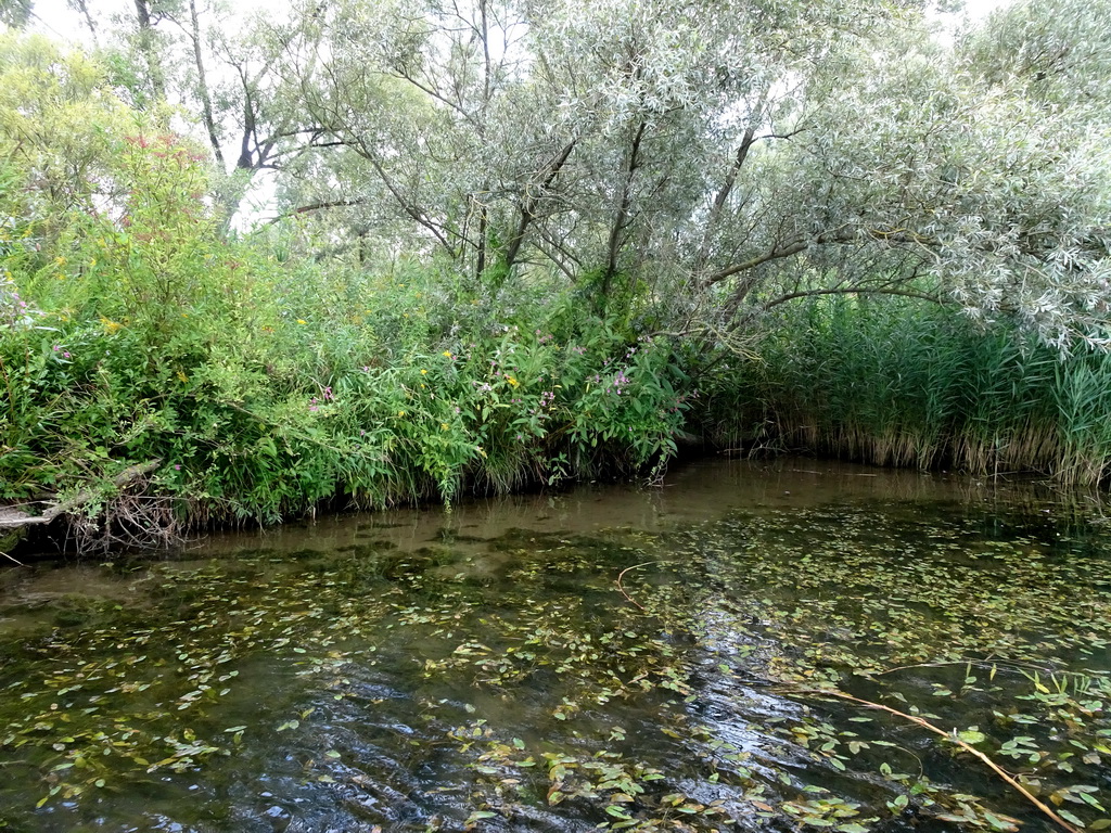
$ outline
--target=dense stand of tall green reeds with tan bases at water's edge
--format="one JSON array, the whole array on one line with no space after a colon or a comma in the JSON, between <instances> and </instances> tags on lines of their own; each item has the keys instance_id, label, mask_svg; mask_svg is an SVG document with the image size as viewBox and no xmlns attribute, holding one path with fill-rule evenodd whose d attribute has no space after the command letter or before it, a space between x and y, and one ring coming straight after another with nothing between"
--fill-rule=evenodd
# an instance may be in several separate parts
<instances>
[{"instance_id":1,"label":"dense stand of tall green reeds with tan bases at water's edge","mask_svg":"<svg viewBox=\"0 0 1111 833\"><path fill-rule=\"evenodd\" d=\"M990 474L1111 475L1111 361L1061 359L1005 327L917 302L823 300L784 314L754 360L700 384L719 443Z\"/></svg>"}]
</instances>

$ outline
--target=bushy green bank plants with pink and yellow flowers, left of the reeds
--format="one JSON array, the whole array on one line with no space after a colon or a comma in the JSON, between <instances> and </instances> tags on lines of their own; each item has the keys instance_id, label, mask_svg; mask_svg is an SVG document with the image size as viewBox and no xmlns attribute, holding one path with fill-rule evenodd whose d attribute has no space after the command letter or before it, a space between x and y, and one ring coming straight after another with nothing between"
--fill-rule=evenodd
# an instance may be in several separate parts
<instances>
[{"instance_id":1,"label":"bushy green bank plants with pink and yellow flowers, left of the reeds","mask_svg":"<svg viewBox=\"0 0 1111 833\"><path fill-rule=\"evenodd\" d=\"M33 171L4 169L4 498L96 491L158 460L147 488L182 522L277 521L674 453L671 348L628 320L578 315L546 285L477 293L451 263L322 262L311 224L226 238L188 142L78 106L100 118L88 167L107 210L48 212L22 199Z\"/></svg>"}]
</instances>

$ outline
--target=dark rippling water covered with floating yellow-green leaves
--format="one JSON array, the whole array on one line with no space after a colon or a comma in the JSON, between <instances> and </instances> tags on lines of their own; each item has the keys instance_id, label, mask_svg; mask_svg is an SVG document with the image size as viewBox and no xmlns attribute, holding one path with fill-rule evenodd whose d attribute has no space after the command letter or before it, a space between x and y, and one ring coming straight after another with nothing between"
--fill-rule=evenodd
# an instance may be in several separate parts
<instances>
[{"instance_id":1,"label":"dark rippling water covered with floating yellow-green leaves","mask_svg":"<svg viewBox=\"0 0 1111 833\"><path fill-rule=\"evenodd\" d=\"M2 569L0 825L1054 827L875 703L1100 830L1109 551L1033 488L712 461Z\"/></svg>"}]
</instances>

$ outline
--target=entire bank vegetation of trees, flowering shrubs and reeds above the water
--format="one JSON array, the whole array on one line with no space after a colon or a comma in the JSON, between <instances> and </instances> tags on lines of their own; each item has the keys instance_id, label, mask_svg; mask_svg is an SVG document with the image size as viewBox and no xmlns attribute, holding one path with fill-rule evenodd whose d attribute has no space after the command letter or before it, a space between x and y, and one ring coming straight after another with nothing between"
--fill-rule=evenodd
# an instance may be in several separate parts
<instances>
[{"instance_id":1,"label":"entire bank vegetation of trees, flowering shrubs and reeds above the water","mask_svg":"<svg viewBox=\"0 0 1111 833\"><path fill-rule=\"evenodd\" d=\"M683 443L1108 479L1105 3L81 8L0 40L0 500L84 545Z\"/></svg>"}]
</instances>

